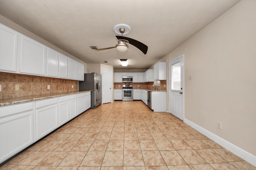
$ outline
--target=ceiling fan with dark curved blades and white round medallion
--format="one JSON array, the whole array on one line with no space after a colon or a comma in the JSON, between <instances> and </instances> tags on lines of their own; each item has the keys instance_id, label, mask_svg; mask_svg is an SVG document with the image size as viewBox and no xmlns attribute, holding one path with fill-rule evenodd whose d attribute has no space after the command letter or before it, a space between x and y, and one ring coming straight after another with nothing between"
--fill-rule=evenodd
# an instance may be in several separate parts
<instances>
[{"instance_id":1,"label":"ceiling fan with dark curved blades and white round medallion","mask_svg":"<svg viewBox=\"0 0 256 170\"><path fill-rule=\"evenodd\" d=\"M117 24L117 25L114 26L114 32L119 34L119 35L122 35L122 36L116 35L116 38L118 39L118 44L114 47L96 49L97 51L116 48L118 51L124 52L128 49L128 45L126 43L129 43L129 44L134 45L135 47L137 47L140 51L142 51L142 53L144 53L144 54L147 53L148 46L146 46L145 44L143 44L140 41L137 41L135 39L132 39L132 38L129 38L129 37L123 37L123 35L128 34L130 32L130 26L129 25Z\"/></svg>"}]
</instances>

